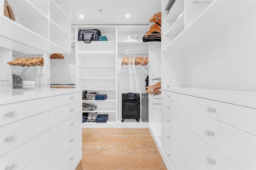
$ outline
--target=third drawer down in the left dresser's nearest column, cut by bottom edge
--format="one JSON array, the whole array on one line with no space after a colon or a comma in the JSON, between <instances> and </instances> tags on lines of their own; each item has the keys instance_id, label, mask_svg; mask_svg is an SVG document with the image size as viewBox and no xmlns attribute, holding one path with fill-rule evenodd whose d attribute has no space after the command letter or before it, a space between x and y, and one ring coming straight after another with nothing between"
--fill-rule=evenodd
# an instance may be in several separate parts
<instances>
[{"instance_id":1,"label":"third drawer down in the left dresser's nearest column, cut by bottom edge","mask_svg":"<svg viewBox=\"0 0 256 170\"><path fill-rule=\"evenodd\" d=\"M1 146L2 147L2 146ZM49 148L49 131L29 140L0 158L1 170L24 169Z\"/></svg>"}]
</instances>

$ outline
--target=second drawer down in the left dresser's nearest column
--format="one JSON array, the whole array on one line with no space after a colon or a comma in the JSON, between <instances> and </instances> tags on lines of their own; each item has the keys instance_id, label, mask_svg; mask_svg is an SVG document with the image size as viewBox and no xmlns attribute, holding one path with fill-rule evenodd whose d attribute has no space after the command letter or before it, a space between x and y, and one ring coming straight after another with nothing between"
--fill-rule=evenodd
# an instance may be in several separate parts
<instances>
[{"instance_id":1,"label":"second drawer down in the left dresser's nearest column","mask_svg":"<svg viewBox=\"0 0 256 170\"><path fill-rule=\"evenodd\" d=\"M1 156L48 129L49 111L0 127Z\"/></svg>"}]
</instances>

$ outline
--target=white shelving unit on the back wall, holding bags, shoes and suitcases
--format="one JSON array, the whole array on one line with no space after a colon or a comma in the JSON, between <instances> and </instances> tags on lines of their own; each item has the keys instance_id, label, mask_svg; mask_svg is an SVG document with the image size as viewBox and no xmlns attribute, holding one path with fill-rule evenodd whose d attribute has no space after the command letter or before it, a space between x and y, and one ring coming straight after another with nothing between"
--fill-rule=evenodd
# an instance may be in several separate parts
<instances>
[{"instance_id":1,"label":"white shelving unit on the back wall, holding bags, shoes and suitcases","mask_svg":"<svg viewBox=\"0 0 256 170\"><path fill-rule=\"evenodd\" d=\"M108 41L93 41L91 43L84 43L78 41L79 30L98 29L101 36L106 36ZM99 92L99 94L106 94L107 99L104 101L84 100L84 103L93 103L97 105L95 111L98 114L108 114L107 123L98 124L87 122L84 127L147 127L147 123L137 123L127 120L121 123L122 120L122 93L142 93L142 86L145 86L144 75L140 82L140 87L126 88L126 92L122 91L122 86L128 85L130 81L126 79L126 83L120 78L121 72L121 55L141 56L148 55L148 43L142 41L127 41L127 36L138 35L140 40L147 31L148 26L87 26L76 25L72 26L72 32L75 32L76 46L76 88L90 92ZM135 57L134 57L135 58ZM134 66L135 68L135 66ZM148 75L147 67L144 66L144 74ZM135 73L134 73L135 74ZM128 77L129 73L126 74ZM135 74L136 75L136 74ZM132 75L132 76L135 76ZM123 82L123 83L122 83ZM137 83L136 83L137 84ZM143 87L145 88L145 87ZM143 91L143 93L145 93Z\"/></svg>"}]
</instances>

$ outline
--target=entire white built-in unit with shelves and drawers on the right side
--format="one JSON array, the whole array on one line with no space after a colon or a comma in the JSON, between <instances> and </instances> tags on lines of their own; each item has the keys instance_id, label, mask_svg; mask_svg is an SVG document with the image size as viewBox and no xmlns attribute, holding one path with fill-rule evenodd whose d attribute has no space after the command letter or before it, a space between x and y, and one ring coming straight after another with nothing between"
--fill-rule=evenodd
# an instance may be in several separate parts
<instances>
[{"instance_id":1,"label":"entire white built-in unit with shelves and drawers on the right side","mask_svg":"<svg viewBox=\"0 0 256 170\"><path fill-rule=\"evenodd\" d=\"M256 167L255 152L245 154L256 141L255 118L245 119L256 113L255 14L255 1L229 0L176 0L162 11L159 145L168 169ZM234 138L246 143L238 155L240 144L226 143Z\"/></svg>"}]
</instances>

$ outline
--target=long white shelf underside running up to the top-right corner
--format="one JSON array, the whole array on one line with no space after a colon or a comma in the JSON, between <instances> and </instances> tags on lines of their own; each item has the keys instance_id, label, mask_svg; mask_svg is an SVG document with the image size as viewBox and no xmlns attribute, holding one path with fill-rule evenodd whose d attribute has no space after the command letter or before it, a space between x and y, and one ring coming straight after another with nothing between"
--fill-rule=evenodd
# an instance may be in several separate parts
<instances>
[{"instance_id":1,"label":"long white shelf underside running up to the top-right corner","mask_svg":"<svg viewBox=\"0 0 256 170\"><path fill-rule=\"evenodd\" d=\"M226 9L229 9L228 12ZM216 13L216 11L218 11ZM238 12L246 11L246 12ZM214 37L222 30L255 15L254 1L215 0L196 17L162 52L186 51ZM220 18L222 18L220 20Z\"/></svg>"}]
</instances>

